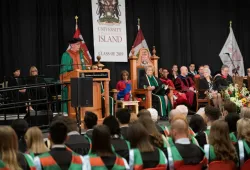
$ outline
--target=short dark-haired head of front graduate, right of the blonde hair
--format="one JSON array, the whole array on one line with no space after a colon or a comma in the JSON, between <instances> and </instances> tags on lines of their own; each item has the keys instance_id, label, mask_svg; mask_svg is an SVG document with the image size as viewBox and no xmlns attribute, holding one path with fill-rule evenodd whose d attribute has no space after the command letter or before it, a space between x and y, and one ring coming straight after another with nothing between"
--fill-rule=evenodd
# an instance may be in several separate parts
<instances>
[{"instance_id":1,"label":"short dark-haired head of front graduate, right of the blonde hair","mask_svg":"<svg viewBox=\"0 0 250 170\"><path fill-rule=\"evenodd\" d=\"M67 133L67 125L62 120L54 121L49 128L49 139L53 144L63 144L67 139Z\"/></svg>"}]
</instances>

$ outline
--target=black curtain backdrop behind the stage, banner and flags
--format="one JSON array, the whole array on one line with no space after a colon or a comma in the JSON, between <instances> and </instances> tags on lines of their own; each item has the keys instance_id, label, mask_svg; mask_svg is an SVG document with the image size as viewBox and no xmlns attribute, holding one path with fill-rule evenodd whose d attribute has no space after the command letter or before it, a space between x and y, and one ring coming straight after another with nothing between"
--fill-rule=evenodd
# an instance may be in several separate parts
<instances>
[{"instance_id":1,"label":"black curtain backdrop behind the stage, banner and flags","mask_svg":"<svg viewBox=\"0 0 250 170\"><path fill-rule=\"evenodd\" d=\"M156 46L159 66L208 64L220 69L219 52L229 34L229 21L250 67L249 0L126 0L128 53L137 33L137 18L146 41ZM75 15L87 47L94 57L91 0L1 0L0 82L15 67L28 75L57 77L61 55L75 31ZM104 63L111 70L111 88L129 63Z\"/></svg>"}]
</instances>

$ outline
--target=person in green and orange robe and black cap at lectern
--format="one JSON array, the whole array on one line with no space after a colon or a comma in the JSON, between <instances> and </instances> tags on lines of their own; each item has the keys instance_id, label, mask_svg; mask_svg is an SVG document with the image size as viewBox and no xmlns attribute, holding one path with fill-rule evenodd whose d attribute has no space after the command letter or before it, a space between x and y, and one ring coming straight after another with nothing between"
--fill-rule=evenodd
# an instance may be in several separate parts
<instances>
[{"instance_id":1,"label":"person in green and orange robe and black cap at lectern","mask_svg":"<svg viewBox=\"0 0 250 170\"><path fill-rule=\"evenodd\" d=\"M69 41L70 49L68 49L66 52L62 55L61 60L61 67L60 67L60 79L62 81L62 76L67 74L70 71L73 70L85 70L85 61L84 61L84 55L81 48L81 41L80 38L73 38ZM63 87L62 89L62 100L68 99L68 89L67 87ZM63 102L62 104L62 112L68 113L67 108L68 102Z\"/></svg>"}]
</instances>

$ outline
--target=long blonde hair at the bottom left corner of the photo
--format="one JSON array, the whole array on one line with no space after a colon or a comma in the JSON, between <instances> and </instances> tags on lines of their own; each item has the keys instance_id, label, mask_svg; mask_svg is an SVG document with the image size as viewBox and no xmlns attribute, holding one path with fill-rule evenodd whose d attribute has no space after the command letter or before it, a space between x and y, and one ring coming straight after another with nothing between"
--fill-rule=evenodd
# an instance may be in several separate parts
<instances>
[{"instance_id":1,"label":"long blonde hair at the bottom left corner of the photo","mask_svg":"<svg viewBox=\"0 0 250 170\"><path fill-rule=\"evenodd\" d=\"M9 126L0 127L0 159L10 170L22 170L18 164L18 139L15 131Z\"/></svg>"}]
</instances>

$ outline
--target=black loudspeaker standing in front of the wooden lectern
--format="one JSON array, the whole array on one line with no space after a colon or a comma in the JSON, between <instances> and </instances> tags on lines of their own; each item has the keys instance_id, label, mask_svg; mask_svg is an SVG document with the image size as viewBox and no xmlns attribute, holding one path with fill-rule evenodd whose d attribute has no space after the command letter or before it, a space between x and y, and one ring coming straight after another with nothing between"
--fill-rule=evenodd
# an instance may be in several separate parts
<instances>
[{"instance_id":1,"label":"black loudspeaker standing in front of the wooden lectern","mask_svg":"<svg viewBox=\"0 0 250 170\"><path fill-rule=\"evenodd\" d=\"M93 78L71 78L71 106L93 106Z\"/></svg>"}]
</instances>

